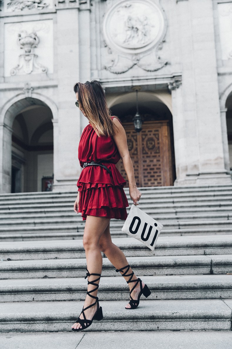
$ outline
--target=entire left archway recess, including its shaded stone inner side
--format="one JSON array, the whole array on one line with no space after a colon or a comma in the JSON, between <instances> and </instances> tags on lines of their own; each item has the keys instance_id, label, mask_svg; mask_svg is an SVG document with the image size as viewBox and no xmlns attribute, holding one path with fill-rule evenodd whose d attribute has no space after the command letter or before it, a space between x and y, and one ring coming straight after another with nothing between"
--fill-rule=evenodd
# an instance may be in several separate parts
<instances>
[{"instance_id":1,"label":"entire left archway recess, including its shaded stone inner side","mask_svg":"<svg viewBox=\"0 0 232 349\"><path fill-rule=\"evenodd\" d=\"M7 110L2 154L3 171L9 173L5 192L52 190L52 119L51 109L37 98L20 99Z\"/></svg>"}]
</instances>

